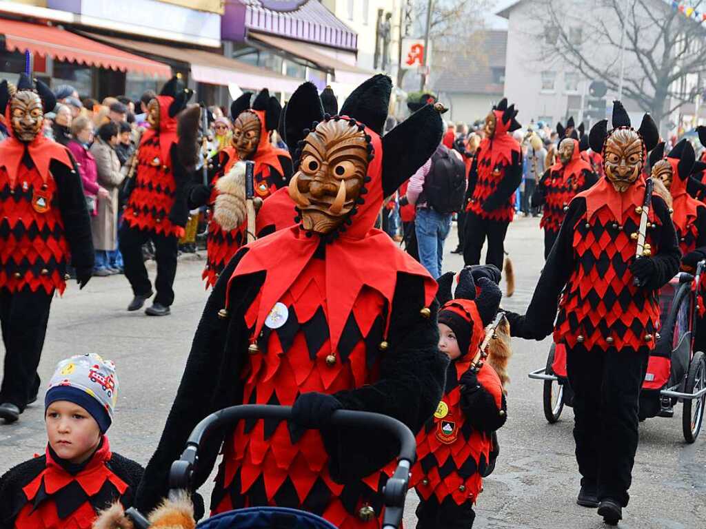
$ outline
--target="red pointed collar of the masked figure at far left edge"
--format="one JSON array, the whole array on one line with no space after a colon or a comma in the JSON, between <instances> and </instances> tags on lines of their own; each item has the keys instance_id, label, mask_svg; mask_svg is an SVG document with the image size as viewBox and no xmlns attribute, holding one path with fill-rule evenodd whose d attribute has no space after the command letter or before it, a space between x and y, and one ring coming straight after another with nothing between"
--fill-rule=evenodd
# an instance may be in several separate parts
<instances>
[{"instance_id":1,"label":"red pointed collar of the masked figure at far left edge","mask_svg":"<svg viewBox=\"0 0 706 529\"><path fill-rule=\"evenodd\" d=\"M49 180L49 164L52 163L52 160L73 169L71 155L64 145L48 140L42 135L37 135L37 138L31 143L20 142L11 136L0 142L0 167L4 167L7 171L11 187L15 186L25 150L29 153L44 183Z\"/></svg>"}]
</instances>

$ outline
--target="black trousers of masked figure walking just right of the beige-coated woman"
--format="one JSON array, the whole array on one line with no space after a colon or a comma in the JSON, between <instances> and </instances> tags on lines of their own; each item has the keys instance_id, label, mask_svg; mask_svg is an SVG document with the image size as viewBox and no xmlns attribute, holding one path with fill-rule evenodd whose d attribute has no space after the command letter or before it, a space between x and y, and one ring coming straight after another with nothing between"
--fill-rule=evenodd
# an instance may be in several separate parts
<instances>
[{"instance_id":1,"label":"black trousers of masked figure walking just right of the beige-coated woman","mask_svg":"<svg viewBox=\"0 0 706 529\"><path fill-rule=\"evenodd\" d=\"M132 228L126 222L120 226L118 241L123 255L125 276L130 281L135 296L147 296L152 291L150 277L142 257L142 245L148 240L155 244L157 260L157 278L155 288L157 296L154 303L169 307L174 302L174 276L177 275L177 255L179 238L164 236L153 231Z\"/></svg>"}]
</instances>

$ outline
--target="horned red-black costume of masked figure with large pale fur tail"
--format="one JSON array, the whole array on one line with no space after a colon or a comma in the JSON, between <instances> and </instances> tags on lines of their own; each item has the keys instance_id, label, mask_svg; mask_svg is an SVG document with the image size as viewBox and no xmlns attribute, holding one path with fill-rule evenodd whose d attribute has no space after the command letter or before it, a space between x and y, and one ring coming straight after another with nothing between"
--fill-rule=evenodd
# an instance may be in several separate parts
<instances>
[{"instance_id":1,"label":"horned red-black costume of masked figure with large pale fur tail","mask_svg":"<svg viewBox=\"0 0 706 529\"><path fill-rule=\"evenodd\" d=\"M230 107L233 120L242 112L252 112L258 116L261 124L260 141L257 150L248 159L255 163L253 184L255 196L263 200L268 199L278 189L286 188L289 178L292 177L292 157L289 152L277 149L270 142L270 131L277 128L280 121L282 107L276 97L270 97L270 92L262 90L251 106L251 92L246 92L236 99ZM229 145L218 153L217 160L213 163L210 186L193 186L189 193L189 207L194 209L206 204L210 205L211 217L208 221L208 235L206 236L206 267L203 279L207 286L214 286L218 276L235 255L238 248L244 245L246 239L247 219L236 229L225 230L213 218L213 204L218 194L215 184L219 178L228 174L228 171L239 161L237 150ZM290 203L291 205L291 203ZM293 206L293 205L292 205ZM290 209L291 212L291 209ZM289 214L289 226L294 224L294 216ZM257 233L260 236L260 233Z\"/></svg>"}]
</instances>

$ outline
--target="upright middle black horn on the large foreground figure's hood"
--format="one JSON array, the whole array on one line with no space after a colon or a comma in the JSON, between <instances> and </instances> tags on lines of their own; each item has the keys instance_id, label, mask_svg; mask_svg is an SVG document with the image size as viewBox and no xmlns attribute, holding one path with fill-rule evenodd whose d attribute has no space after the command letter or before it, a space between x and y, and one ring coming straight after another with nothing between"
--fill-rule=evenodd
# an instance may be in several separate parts
<instances>
[{"instance_id":1,"label":"upright middle black horn on the large foreground figure's hood","mask_svg":"<svg viewBox=\"0 0 706 529\"><path fill-rule=\"evenodd\" d=\"M340 114L354 118L382 135L392 90L393 82L387 75L373 75L351 92Z\"/></svg>"}]
</instances>

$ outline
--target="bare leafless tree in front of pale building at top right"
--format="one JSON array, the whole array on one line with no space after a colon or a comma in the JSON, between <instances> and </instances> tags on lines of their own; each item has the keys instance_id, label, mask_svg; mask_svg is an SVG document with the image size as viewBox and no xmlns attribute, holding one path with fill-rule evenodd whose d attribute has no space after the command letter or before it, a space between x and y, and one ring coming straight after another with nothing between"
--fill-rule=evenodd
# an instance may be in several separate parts
<instances>
[{"instance_id":1,"label":"bare leafless tree in front of pale building at top right","mask_svg":"<svg viewBox=\"0 0 706 529\"><path fill-rule=\"evenodd\" d=\"M702 11L698 0L693 7ZM573 4L573 5L572 5ZM706 71L706 28L665 0L598 0L585 9L565 0L539 0L535 17L541 60L563 61L609 90L637 102L657 123L693 102ZM576 11L579 11L578 13ZM578 20L572 25L570 20Z\"/></svg>"}]
</instances>

